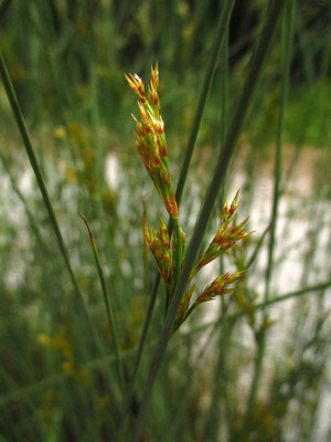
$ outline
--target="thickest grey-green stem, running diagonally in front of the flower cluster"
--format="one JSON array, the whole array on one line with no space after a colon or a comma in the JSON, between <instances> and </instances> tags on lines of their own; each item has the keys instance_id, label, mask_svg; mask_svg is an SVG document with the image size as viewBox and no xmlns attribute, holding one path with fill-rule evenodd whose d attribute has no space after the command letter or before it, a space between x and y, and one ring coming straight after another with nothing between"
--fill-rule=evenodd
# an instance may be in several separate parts
<instances>
[{"instance_id":1,"label":"thickest grey-green stem, running diagonally in front of the flower cluster","mask_svg":"<svg viewBox=\"0 0 331 442\"><path fill-rule=\"evenodd\" d=\"M267 51L269 49L269 45L270 45L270 42L271 42L271 39L274 35L275 27L278 22L284 3L285 3L285 0L279 0L277 2L274 1L273 4L270 6L268 18L265 22L258 46L256 49L256 52L253 55L253 60L252 60L252 63L250 63L250 66L248 70L245 86L242 92L241 99L239 99L238 106L236 108L236 112L234 114L229 130L227 133L224 148L222 149L222 152L218 156L216 169L215 169L212 182L210 185L210 188L207 190L200 217L197 219L197 222L196 222L196 225L195 225L195 229L193 232L192 240L191 240L189 249L188 249L186 257L185 257L185 261L184 261L183 267L182 267L181 277L179 280L177 290L174 292L173 299L172 299L172 303L169 308L169 314L167 316L167 320L166 320L161 337L159 339L157 349L152 357L148 380L143 388L143 396L142 396L141 407L139 410L139 415L137 419L137 425L135 429L135 440L138 440L140 436L140 431L141 431L145 412L147 410L147 406L150 400L150 394L151 394L151 391L153 388L153 383L154 383L157 373L159 371L159 368L161 366L161 361L164 356L164 352L166 352L166 349L167 349L167 346L168 346L168 343L169 343L169 339L170 339L170 336L172 333L173 323L175 320L177 312L178 312L178 308L181 303L182 294L184 293L186 283L190 277L190 273L194 265L199 248L202 243L203 235L206 230L207 221L211 217L211 213L212 213L213 207L215 204L222 181L223 181L225 172L226 172L227 165L229 162L229 159L234 151L236 141L241 134L244 118L246 116L248 105L253 97L253 93L256 88L257 81L261 73L263 63L265 61ZM231 7L231 6L228 4L228 7Z\"/></svg>"}]
</instances>

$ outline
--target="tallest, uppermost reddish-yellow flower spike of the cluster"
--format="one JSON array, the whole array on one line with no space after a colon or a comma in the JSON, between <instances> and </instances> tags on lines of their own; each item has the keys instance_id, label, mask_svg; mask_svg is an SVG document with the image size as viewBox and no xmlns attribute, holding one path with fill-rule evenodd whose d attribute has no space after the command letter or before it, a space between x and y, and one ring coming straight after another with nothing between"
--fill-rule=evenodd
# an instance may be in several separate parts
<instances>
[{"instance_id":1,"label":"tallest, uppermost reddish-yellow flower spike of the cluster","mask_svg":"<svg viewBox=\"0 0 331 442\"><path fill-rule=\"evenodd\" d=\"M178 206L168 169L164 122L161 116L158 95L158 64L156 64L156 67L151 67L151 81L147 94L143 82L137 74L126 75L126 80L138 96L140 118L138 119L132 115L136 124L135 139L138 154L162 198L168 213L172 218L178 218Z\"/></svg>"}]
</instances>

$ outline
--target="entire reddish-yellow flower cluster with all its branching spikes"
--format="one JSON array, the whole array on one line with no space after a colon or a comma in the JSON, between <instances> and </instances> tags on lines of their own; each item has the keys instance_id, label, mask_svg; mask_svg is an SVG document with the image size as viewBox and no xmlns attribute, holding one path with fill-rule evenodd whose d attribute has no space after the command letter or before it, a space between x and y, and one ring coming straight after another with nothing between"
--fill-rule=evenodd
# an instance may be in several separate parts
<instances>
[{"instance_id":1,"label":"entire reddish-yellow flower cluster with all its branching spikes","mask_svg":"<svg viewBox=\"0 0 331 442\"><path fill-rule=\"evenodd\" d=\"M153 254L158 271L166 286L166 315L171 304L177 282L180 277L185 257L185 233L179 221L179 209L173 191L172 179L168 168L168 150L164 133L164 122L161 116L158 64L151 67L151 80L147 92L143 82L137 74L126 75L129 86L138 96L140 118L132 115L136 124L135 139L138 154L143 166L157 188L163 206L174 227L171 240L169 230L160 215L159 231L145 223L143 235ZM247 238L252 232L246 231L248 218L237 223L235 212L238 207L238 192L231 204L224 202L221 227L207 249L193 267L189 287L182 295L182 301L173 324L175 332L192 314L197 305L223 296L234 290L233 283L244 276L245 271L233 274L225 273L211 282L202 293L195 292L195 276L202 267L216 260L232 249L237 241ZM192 301L195 298L195 301Z\"/></svg>"}]
</instances>

